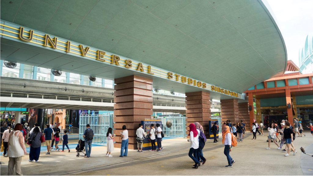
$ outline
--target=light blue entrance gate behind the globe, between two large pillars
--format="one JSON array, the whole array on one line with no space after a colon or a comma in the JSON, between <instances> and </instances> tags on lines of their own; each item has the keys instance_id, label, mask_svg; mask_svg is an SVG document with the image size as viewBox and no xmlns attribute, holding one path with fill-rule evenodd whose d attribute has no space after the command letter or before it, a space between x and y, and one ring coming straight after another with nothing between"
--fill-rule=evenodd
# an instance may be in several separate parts
<instances>
[{"instance_id":1,"label":"light blue entrance gate behind the globe, between two large pillars","mask_svg":"<svg viewBox=\"0 0 313 176\"><path fill-rule=\"evenodd\" d=\"M178 115L173 117L172 115ZM162 132L166 137L178 137L186 138L186 117L181 114L171 114L171 115L158 115L162 117L156 117L162 121ZM166 126L167 121L172 123L172 126L168 128Z\"/></svg>"}]
</instances>

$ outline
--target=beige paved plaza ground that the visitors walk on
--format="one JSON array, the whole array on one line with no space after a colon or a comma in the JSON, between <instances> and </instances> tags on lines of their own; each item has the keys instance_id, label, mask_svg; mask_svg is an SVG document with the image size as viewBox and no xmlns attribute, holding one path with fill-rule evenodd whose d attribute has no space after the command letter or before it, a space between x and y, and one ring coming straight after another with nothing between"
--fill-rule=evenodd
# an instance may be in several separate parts
<instances>
[{"instance_id":1,"label":"beige paved plaza ground that the visitors walk on","mask_svg":"<svg viewBox=\"0 0 313 176\"><path fill-rule=\"evenodd\" d=\"M274 143L266 150L266 138L257 135L256 140L251 140L251 134L246 134L244 142L231 152L236 161L233 168L225 168L227 159L221 139L217 144L208 140L203 150L207 163L197 169L197 175L313 175L313 157L299 149L302 146L307 153L313 152L311 136L297 137L294 144L298 153L289 157L284 157L285 153L277 150ZM38 163L29 163L28 156L23 157L22 172L24 175L194 175L187 139L166 139L162 143L162 152L129 150L128 157L123 158L118 157L119 148L115 148L113 157L105 157L106 147L102 146L93 147L90 158L77 158L74 150L51 152L49 156L42 152ZM1 175L7 175L8 158L1 156L1 162Z\"/></svg>"}]
</instances>

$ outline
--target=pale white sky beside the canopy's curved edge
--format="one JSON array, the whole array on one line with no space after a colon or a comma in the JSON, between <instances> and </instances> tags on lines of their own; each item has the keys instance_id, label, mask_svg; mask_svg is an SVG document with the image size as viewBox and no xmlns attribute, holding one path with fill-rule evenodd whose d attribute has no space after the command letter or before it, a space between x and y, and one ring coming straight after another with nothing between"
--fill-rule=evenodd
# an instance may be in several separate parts
<instances>
[{"instance_id":1,"label":"pale white sky beside the canopy's curved edge","mask_svg":"<svg viewBox=\"0 0 313 176\"><path fill-rule=\"evenodd\" d=\"M313 0L263 0L272 9L272 16L284 38L287 58L298 67L299 49L305 44L308 34L313 35ZM265 4L265 3L264 3Z\"/></svg>"}]
</instances>

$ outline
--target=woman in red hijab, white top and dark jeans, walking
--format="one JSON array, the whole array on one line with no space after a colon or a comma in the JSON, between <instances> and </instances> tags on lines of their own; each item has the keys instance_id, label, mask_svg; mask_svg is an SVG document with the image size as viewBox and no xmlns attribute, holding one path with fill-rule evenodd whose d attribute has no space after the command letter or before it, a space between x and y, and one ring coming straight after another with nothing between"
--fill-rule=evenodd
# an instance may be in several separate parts
<instances>
[{"instance_id":1,"label":"woman in red hijab, white top and dark jeans, walking","mask_svg":"<svg viewBox=\"0 0 313 176\"><path fill-rule=\"evenodd\" d=\"M198 148L199 148L199 134L200 131L196 128L196 125L191 123L189 125L189 136L188 142L190 143L190 149L188 156L195 162L192 168L198 168L200 166L200 158L198 158ZM192 156L193 154L193 156Z\"/></svg>"}]
</instances>

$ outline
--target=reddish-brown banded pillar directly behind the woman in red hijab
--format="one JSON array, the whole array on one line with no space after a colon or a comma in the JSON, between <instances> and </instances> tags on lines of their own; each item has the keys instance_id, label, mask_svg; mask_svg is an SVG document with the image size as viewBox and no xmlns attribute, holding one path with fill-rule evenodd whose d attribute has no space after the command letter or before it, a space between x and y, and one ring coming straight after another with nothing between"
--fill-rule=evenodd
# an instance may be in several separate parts
<instances>
[{"instance_id":1,"label":"reddish-brown banded pillar directly behind the woman in red hijab","mask_svg":"<svg viewBox=\"0 0 313 176\"><path fill-rule=\"evenodd\" d=\"M199 122L203 126L204 134L208 137L208 124L211 120L210 93L203 91L188 92L186 96L187 130L189 130L190 123Z\"/></svg>"}]
</instances>

